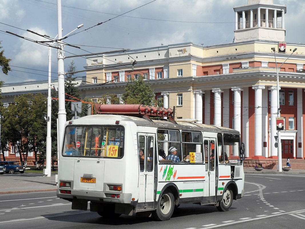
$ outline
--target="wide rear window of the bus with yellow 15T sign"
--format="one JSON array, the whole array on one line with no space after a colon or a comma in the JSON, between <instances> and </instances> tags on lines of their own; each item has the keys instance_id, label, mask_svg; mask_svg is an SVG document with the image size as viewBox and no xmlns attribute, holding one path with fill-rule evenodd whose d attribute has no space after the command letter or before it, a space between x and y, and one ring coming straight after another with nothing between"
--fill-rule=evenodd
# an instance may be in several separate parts
<instances>
[{"instance_id":1,"label":"wide rear window of the bus with yellow 15T sign","mask_svg":"<svg viewBox=\"0 0 305 229\"><path fill-rule=\"evenodd\" d=\"M63 156L122 158L124 127L67 126Z\"/></svg>"}]
</instances>

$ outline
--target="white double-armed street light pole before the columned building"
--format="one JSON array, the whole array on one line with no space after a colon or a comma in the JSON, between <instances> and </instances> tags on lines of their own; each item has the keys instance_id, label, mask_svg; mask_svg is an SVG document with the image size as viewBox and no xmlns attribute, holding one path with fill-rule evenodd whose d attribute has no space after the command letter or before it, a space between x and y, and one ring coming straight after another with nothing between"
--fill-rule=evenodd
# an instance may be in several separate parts
<instances>
[{"instance_id":1,"label":"white double-armed street light pole before the columned building","mask_svg":"<svg viewBox=\"0 0 305 229\"><path fill-rule=\"evenodd\" d=\"M278 93L278 113L277 117L281 117L281 108L280 108L280 89L279 89L279 77L278 77L278 71L281 69L282 65L286 62L286 60L289 59L289 57L297 50L297 48L293 49L292 53L290 56L286 58L286 60L278 67L278 63L276 62L276 57L275 57L275 48L272 48L274 52L274 59L275 59L275 65L276 65L276 88L277 88L277 93ZM276 125L275 125L276 127ZM281 131L278 130L278 172L282 171L282 138L281 138Z\"/></svg>"}]
</instances>

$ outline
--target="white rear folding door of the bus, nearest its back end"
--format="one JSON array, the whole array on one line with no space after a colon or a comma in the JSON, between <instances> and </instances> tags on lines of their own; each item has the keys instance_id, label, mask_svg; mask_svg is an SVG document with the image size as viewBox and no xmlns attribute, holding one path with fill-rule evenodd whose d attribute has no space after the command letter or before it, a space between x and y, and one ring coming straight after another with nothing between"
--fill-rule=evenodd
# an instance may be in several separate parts
<instances>
[{"instance_id":1,"label":"white rear folding door of the bus, nearest its back end","mask_svg":"<svg viewBox=\"0 0 305 229\"><path fill-rule=\"evenodd\" d=\"M155 152L155 134L139 133L138 147L140 175L139 175L139 201L144 202L144 208L148 207L146 203L154 201L154 152ZM152 205L153 206L153 205Z\"/></svg>"}]
</instances>

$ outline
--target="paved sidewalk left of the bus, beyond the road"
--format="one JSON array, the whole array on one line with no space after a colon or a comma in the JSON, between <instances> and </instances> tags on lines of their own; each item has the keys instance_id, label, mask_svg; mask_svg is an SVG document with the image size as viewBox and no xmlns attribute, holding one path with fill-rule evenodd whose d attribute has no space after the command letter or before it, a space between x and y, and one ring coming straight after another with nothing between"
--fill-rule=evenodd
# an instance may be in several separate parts
<instances>
[{"instance_id":1,"label":"paved sidewalk left of the bus, beyond the road","mask_svg":"<svg viewBox=\"0 0 305 229\"><path fill-rule=\"evenodd\" d=\"M55 191L56 182L55 174L51 177L44 177L42 173L18 174L17 176L0 175L0 194L23 193L23 192L39 192L39 191Z\"/></svg>"}]
</instances>

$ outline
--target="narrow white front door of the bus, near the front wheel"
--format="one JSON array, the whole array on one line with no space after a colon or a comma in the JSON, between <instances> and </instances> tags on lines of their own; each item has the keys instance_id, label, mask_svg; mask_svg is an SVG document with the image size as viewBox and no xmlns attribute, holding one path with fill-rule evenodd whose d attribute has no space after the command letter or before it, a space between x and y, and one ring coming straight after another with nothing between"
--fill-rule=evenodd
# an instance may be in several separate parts
<instances>
[{"instance_id":1,"label":"narrow white front door of the bus, near the front wheel","mask_svg":"<svg viewBox=\"0 0 305 229\"><path fill-rule=\"evenodd\" d=\"M216 138L204 138L205 160L206 160L206 181L204 184L204 196L209 197L208 202L216 201L217 184L217 147Z\"/></svg>"}]
</instances>

